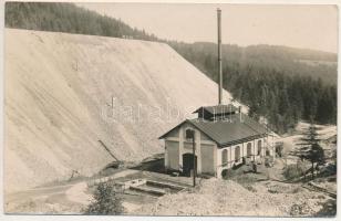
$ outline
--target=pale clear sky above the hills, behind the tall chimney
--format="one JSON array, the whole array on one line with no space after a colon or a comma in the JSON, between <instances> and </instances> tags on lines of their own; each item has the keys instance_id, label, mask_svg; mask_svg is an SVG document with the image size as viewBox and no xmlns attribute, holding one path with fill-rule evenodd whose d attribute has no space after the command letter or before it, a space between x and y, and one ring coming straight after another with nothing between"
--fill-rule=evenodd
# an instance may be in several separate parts
<instances>
[{"instance_id":1,"label":"pale clear sky above the hills, behind the tall chimney","mask_svg":"<svg viewBox=\"0 0 341 221\"><path fill-rule=\"evenodd\" d=\"M161 39L216 42L221 9L223 43L287 45L338 52L335 6L78 3Z\"/></svg>"}]
</instances>

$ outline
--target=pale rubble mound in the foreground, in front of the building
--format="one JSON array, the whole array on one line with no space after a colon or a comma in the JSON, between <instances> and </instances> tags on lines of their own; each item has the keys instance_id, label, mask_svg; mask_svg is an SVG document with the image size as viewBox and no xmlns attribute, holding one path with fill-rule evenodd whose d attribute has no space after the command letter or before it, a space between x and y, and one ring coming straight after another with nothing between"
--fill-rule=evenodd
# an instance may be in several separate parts
<instances>
[{"instance_id":1,"label":"pale rubble mound in the foreground, in front of the building","mask_svg":"<svg viewBox=\"0 0 341 221\"><path fill-rule=\"evenodd\" d=\"M195 190L164 196L134 214L313 217L328 200L332 199L299 183L268 180L247 186L211 178Z\"/></svg>"}]
</instances>

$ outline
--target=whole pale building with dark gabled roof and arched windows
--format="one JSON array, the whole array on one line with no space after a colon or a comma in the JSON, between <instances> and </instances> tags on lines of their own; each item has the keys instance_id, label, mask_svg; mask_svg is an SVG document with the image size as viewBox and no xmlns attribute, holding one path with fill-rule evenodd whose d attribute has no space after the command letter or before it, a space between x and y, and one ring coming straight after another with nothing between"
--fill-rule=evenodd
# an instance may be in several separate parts
<instances>
[{"instance_id":1,"label":"whole pale building with dark gabled roof and arched windows","mask_svg":"<svg viewBox=\"0 0 341 221\"><path fill-rule=\"evenodd\" d=\"M197 119L187 119L161 137L165 140L166 169L188 175L195 164L198 175L220 178L232 167L275 156L267 129L240 108L219 105L195 113Z\"/></svg>"}]
</instances>

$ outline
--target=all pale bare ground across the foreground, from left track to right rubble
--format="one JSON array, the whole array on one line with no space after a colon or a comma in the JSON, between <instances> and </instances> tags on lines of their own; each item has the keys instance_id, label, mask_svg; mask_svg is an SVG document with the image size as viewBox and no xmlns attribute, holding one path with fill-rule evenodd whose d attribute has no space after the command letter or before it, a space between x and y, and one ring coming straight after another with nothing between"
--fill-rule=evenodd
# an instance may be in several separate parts
<instances>
[{"instance_id":1,"label":"all pale bare ground across the foreground, from left track to right rubble","mask_svg":"<svg viewBox=\"0 0 341 221\"><path fill-rule=\"evenodd\" d=\"M288 138L288 140L292 138ZM292 141L289 141L292 145ZM118 193L124 214L133 215L260 215L260 217L330 217L335 214L337 201L330 194L307 188L307 183L290 183L283 177L286 158L277 158L273 167L258 165L257 173L245 165L228 175L226 180L170 177L149 167L118 169L102 176L115 181L149 179L186 187L178 193L163 197ZM153 167L152 167L153 168ZM113 173L112 173L113 172ZM29 214L80 214L92 199L93 188L86 183L102 179L76 179L50 183L6 196L6 212ZM90 181L92 180L92 181ZM314 186L337 193L337 178L318 178Z\"/></svg>"}]
</instances>

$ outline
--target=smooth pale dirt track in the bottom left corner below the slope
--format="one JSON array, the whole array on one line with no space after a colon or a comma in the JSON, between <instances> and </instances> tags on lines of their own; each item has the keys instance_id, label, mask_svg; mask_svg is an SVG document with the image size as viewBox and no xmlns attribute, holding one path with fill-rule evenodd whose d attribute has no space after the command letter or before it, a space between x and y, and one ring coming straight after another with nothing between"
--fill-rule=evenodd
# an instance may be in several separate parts
<instances>
[{"instance_id":1,"label":"smooth pale dirt track in the bottom left corner below the slope","mask_svg":"<svg viewBox=\"0 0 341 221\"><path fill-rule=\"evenodd\" d=\"M130 169L117 170L112 177L120 179L136 172ZM90 179L79 178L6 194L6 213L81 214L92 200L92 190L87 183L97 179L100 179L97 176Z\"/></svg>"}]
</instances>

